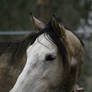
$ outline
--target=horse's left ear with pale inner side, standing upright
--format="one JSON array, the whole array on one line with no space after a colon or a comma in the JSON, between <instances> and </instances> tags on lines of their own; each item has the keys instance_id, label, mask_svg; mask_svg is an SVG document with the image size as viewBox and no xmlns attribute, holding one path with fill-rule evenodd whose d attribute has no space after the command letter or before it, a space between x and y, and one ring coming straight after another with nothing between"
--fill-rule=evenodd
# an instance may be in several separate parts
<instances>
[{"instance_id":1,"label":"horse's left ear with pale inner side, standing upright","mask_svg":"<svg viewBox=\"0 0 92 92\"><path fill-rule=\"evenodd\" d=\"M31 21L36 30L42 30L45 28L45 24L42 21L38 20L36 17L32 16L32 14Z\"/></svg>"}]
</instances>

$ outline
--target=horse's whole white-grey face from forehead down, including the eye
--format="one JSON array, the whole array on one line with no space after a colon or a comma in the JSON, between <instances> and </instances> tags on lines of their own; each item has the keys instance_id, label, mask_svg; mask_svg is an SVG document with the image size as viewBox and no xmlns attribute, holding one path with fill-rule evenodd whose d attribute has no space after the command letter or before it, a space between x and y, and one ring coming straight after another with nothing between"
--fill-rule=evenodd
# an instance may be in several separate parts
<instances>
[{"instance_id":1,"label":"horse's whole white-grey face from forehead down, including the eye","mask_svg":"<svg viewBox=\"0 0 92 92\"><path fill-rule=\"evenodd\" d=\"M27 49L26 65L11 92L51 92L58 87L63 75L59 52L48 34L39 35Z\"/></svg>"}]
</instances>

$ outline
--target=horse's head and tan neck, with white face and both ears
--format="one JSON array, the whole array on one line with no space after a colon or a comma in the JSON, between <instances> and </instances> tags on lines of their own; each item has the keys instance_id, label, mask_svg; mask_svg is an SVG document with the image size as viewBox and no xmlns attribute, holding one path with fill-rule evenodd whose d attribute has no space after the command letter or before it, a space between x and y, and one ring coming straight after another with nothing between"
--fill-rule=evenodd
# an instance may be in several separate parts
<instances>
[{"instance_id":1,"label":"horse's head and tan neck, with white face and both ears","mask_svg":"<svg viewBox=\"0 0 92 92\"><path fill-rule=\"evenodd\" d=\"M31 21L37 31L26 45L26 64L10 92L77 92L82 41L55 16L47 24L34 16Z\"/></svg>"}]
</instances>

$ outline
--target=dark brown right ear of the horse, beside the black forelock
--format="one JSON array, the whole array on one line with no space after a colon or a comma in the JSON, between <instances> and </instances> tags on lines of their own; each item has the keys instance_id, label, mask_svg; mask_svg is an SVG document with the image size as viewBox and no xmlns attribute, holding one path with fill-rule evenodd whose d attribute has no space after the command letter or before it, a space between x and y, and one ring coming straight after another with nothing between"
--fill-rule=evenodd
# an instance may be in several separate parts
<instances>
[{"instance_id":1,"label":"dark brown right ear of the horse, beside the black forelock","mask_svg":"<svg viewBox=\"0 0 92 92\"><path fill-rule=\"evenodd\" d=\"M53 31L57 33L59 37L65 37L66 30L63 25L57 22L57 19L55 16L52 16L51 18L51 26L52 26Z\"/></svg>"}]
</instances>

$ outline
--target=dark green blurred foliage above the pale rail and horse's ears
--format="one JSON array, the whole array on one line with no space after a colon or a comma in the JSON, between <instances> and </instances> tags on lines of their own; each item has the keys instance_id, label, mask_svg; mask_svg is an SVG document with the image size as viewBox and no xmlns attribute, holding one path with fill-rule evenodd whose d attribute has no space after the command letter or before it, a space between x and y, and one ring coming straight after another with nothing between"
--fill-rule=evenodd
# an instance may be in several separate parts
<instances>
[{"instance_id":1,"label":"dark green blurred foliage above the pale rail and horse's ears","mask_svg":"<svg viewBox=\"0 0 92 92\"><path fill-rule=\"evenodd\" d=\"M31 29L29 12L47 20L56 14L64 24L76 29L80 19L88 24L92 0L0 0L0 29Z\"/></svg>"}]
</instances>

